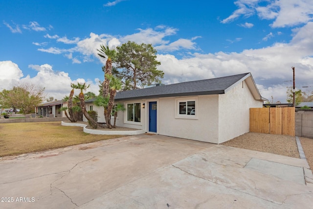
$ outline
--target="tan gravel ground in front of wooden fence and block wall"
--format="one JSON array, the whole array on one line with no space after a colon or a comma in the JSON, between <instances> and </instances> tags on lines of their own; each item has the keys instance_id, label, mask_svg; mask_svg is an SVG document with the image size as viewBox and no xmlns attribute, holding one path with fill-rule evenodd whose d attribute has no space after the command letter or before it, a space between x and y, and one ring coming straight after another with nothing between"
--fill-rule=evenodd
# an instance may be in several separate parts
<instances>
[{"instance_id":1,"label":"tan gravel ground in front of wooden fence and block wall","mask_svg":"<svg viewBox=\"0 0 313 209\"><path fill-rule=\"evenodd\" d=\"M300 138L304 154L312 170L313 168L313 139ZM300 158L295 137L286 135L246 133L222 143L242 149L268 152L276 155L284 155L292 158Z\"/></svg>"}]
</instances>

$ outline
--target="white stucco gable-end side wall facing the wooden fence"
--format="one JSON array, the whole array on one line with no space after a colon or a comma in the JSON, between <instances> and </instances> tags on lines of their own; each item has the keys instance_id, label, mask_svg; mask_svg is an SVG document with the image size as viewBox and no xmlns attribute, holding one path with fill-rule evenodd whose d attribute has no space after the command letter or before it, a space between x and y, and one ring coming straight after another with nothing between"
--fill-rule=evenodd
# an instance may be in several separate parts
<instances>
[{"instance_id":1,"label":"white stucco gable-end side wall facing the wooden fence","mask_svg":"<svg viewBox=\"0 0 313 209\"><path fill-rule=\"evenodd\" d=\"M249 132L249 108L262 107L263 101L253 98L246 82L219 95L219 141L233 139Z\"/></svg>"}]
</instances>

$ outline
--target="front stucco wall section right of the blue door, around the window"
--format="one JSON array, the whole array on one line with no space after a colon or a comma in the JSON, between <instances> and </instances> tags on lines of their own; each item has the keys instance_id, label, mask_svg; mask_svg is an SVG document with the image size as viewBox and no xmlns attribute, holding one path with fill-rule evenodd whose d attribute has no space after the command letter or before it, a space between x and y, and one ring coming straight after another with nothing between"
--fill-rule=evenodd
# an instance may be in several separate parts
<instances>
[{"instance_id":1,"label":"front stucco wall section right of the blue door, around the window","mask_svg":"<svg viewBox=\"0 0 313 209\"><path fill-rule=\"evenodd\" d=\"M218 96L196 96L196 119L177 118L175 106L177 99L195 97L159 98L158 134L218 143Z\"/></svg>"}]
</instances>

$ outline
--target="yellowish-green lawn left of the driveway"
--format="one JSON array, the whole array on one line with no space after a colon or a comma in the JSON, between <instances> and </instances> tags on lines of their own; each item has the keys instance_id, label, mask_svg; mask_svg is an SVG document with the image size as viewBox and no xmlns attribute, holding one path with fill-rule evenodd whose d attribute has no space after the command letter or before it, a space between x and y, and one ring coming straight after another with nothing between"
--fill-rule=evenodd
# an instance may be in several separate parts
<instances>
[{"instance_id":1,"label":"yellowish-green lawn left of the driveway","mask_svg":"<svg viewBox=\"0 0 313 209\"><path fill-rule=\"evenodd\" d=\"M0 123L0 157L123 137L92 135L61 122Z\"/></svg>"}]
</instances>

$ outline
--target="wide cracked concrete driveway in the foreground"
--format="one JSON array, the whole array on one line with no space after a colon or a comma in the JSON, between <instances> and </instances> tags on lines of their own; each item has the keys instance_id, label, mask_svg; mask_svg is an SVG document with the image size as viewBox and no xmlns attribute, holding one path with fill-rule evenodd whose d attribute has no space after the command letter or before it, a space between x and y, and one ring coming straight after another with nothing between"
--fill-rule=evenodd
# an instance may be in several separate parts
<instances>
[{"instance_id":1,"label":"wide cracked concrete driveway in the foreground","mask_svg":"<svg viewBox=\"0 0 313 209\"><path fill-rule=\"evenodd\" d=\"M308 167L301 159L144 134L0 159L0 208L312 208Z\"/></svg>"}]
</instances>

